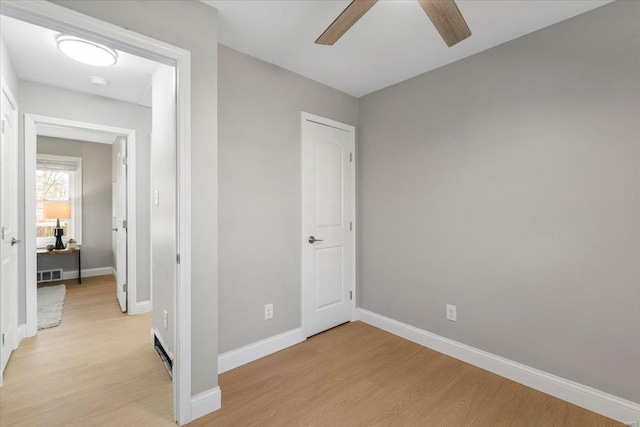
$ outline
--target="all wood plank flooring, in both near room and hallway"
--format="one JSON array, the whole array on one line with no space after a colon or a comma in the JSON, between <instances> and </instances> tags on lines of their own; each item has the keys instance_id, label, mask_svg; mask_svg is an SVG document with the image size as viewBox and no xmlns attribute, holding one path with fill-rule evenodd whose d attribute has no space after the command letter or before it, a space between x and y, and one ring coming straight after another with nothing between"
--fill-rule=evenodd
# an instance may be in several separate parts
<instances>
[{"instance_id":1,"label":"all wood plank flooring, in both near room and hallway","mask_svg":"<svg viewBox=\"0 0 640 427\"><path fill-rule=\"evenodd\" d=\"M120 313L112 279L67 282L62 324L24 340L0 425L173 426L150 315ZM199 426L614 426L610 419L361 322L220 375Z\"/></svg>"}]
</instances>

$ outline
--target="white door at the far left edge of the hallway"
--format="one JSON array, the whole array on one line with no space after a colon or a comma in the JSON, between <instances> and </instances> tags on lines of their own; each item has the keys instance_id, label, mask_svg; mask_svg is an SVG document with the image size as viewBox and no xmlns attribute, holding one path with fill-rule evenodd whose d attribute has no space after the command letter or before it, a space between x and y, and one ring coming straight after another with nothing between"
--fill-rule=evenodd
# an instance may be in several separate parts
<instances>
[{"instance_id":1,"label":"white door at the far left edge of the hallway","mask_svg":"<svg viewBox=\"0 0 640 427\"><path fill-rule=\"evenodd\" d=\"M4 85L3 85L4 86ZM0 373L17 343L18 141L17 106L2 88L0 139ZM0 380L1 380L0 375ZM1 382L0 382L1 384Z\"/></svg>"}]
</instances>

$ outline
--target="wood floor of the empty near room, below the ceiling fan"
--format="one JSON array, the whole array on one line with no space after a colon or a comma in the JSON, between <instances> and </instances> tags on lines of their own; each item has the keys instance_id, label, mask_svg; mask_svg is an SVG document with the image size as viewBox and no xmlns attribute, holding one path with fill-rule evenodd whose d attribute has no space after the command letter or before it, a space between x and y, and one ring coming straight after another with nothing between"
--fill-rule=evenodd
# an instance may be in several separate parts
<instances>
[{"instance_id":1,"label":"wood floor of the empty near room, below the ceiling fan","mask_svg":"<svg viewBox=\"0 0 640 427\"><path fill-rule=\"evenodd\" d=\"M614 421L361 322L220 375L190 426L613 426Z\"/></svg>"}]
</instances>

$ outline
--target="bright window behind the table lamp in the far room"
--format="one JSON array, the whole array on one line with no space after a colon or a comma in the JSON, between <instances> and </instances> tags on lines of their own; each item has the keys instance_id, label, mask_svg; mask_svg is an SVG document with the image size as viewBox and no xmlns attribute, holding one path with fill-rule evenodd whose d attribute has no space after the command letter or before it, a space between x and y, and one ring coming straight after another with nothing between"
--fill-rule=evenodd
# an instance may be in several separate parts
<instances>
[{"instance_id":1,"label":"bright window behind the table lamp in the far room","mask_svg":"<svg viewBox=\"0 0 640 427\"><path fill-rule=\"evenodd\" d=\"M45 202L69 202L71 218L60 219L62 241L82 244L82 158L38 154L36 160L36 238L43 248L55 244L55 219L44 218Z\"/></svg>"}]
</instances>

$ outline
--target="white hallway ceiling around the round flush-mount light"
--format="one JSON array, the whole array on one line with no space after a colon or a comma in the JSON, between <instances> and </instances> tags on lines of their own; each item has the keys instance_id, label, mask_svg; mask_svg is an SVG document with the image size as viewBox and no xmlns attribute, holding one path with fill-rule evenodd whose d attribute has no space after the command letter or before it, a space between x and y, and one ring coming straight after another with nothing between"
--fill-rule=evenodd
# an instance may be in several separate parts
<instances>
[{"instance_id":1,"label":"white hallway ceiling around the round flush-mount light","mask_svg":"<svg viewBox=\"0 0 640 427\"><path fill-rule=\"evenodd\" d=\"M115 65L95 67L60 52L57 31L7 16L0 17L0 30L18 78L151 106L151 74L158 63L116 50ZM91 76L104 77L109 84L96 86L89 81Z\"/></svg>"}]
</instances>

